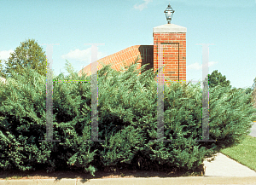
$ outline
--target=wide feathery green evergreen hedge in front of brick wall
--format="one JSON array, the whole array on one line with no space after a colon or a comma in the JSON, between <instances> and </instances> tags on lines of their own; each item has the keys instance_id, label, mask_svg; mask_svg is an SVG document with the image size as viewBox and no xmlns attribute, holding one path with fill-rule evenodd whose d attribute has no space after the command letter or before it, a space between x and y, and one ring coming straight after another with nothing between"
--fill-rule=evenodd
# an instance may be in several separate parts
<instances>
[{"instance_id":1,"label":"wide feathery green evergreen hedge in front of brick wall","mask_svg":"<svg viewBox=\"0 0 256 185\"><path fill-rule=\"evenodd\" d=\"M116 72L110 66L98 71L98 135L90 140L90 76L70 75L55 80L53 90L54 140L46 137L46 77L31 68L0 84L0 169L56 171L83 169L94 175L105 166L163 171L194 171L206 157L240 143L255 120L251 94L217 85L210 88L209 135L201 139L201 84L179 84L164 89L164 139L157 139L157 73L135 70L137 61ZM141 68L143 70L145 66Z\"/></svg>"}]
</instances>

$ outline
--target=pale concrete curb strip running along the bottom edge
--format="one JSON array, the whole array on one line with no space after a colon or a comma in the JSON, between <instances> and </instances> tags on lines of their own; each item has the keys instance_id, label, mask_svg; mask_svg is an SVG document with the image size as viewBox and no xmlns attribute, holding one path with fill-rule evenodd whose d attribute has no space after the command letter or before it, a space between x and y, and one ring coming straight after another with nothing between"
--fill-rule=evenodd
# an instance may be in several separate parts
<instances>
[{"instance_id":1,"label":"pale concrete curb strip running along the bottom edge","mask_svg":"<svg viewBox=\"0 0 256 185\"><path fill-rule=\"evenodd\" d=\"M172 177L172 178L112 178L112 179L54 179L42 180L0 180L1 185L170 185L170 184L256 184L256 176L192 176L192 177Z\"/></svg>"}]
</instances>

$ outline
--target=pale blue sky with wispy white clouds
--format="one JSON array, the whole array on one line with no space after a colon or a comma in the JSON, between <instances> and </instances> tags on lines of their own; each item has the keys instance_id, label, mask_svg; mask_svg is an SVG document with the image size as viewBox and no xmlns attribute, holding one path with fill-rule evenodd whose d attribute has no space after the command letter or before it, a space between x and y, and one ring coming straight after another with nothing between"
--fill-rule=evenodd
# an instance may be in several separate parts
<instances>
[{"instance_id":1,"label":"pale blue sky with wispy white clouds","mask_svg":"<svg viewBox=\"0 0 256 185\"><path fill-rule=\"evenodd\" d=\"M133 45L153 44L153 28L165 25L171 3L172 24L187 28L187 81L202 78L202 46L209 46L209 74L218 70L232 87L251 88L256 78L256 0L0 0L0 59L26 39L53 46L55 75L90 64L90 45L98 59ZM41 45L46 52L46 45ZM4 64L3 64L4 65ZM196 83L196 82L195 82Z\"/></svg>"}]
</instances>

